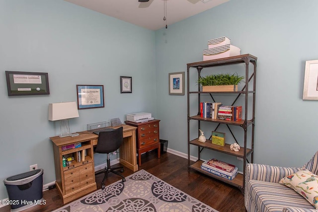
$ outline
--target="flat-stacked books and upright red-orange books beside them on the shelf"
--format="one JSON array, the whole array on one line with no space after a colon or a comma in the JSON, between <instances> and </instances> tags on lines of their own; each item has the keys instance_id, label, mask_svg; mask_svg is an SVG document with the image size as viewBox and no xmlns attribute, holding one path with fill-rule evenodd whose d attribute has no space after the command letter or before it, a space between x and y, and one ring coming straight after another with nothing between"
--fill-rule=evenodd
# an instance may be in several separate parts
<instances>
[{"instance_id":1,"label":"flat-stacked books and upright red-orange books beside them on the shelf","mask_svg":"<svg viewBox=\"0 0 318 212\"><path fill-rule=\"evenodd\" d=\"M218 119L228 121L242 120L242 106L227 106L221 105L218 110Z\"/></svg>"}]
</instances>

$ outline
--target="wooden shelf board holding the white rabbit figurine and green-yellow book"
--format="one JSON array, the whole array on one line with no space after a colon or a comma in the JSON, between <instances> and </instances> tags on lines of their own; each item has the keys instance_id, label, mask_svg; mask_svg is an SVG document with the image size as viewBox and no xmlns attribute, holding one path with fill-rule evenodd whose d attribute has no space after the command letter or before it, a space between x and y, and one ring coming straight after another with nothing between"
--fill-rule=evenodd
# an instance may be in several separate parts
<instances>
[{"instance_id":1,"label":"wooden shelf board holding the white rabbit figurine and green-yellow book","mask_svg":"<svg viewBox=\"0 0 318 212\"><path fill-rule=\"evenodd\" d=\"M244 157L244 147L240 147L239 151L233 151L230 148L230 144L226 143L225 146L220 146L220 145L216 145L213 144L211 140L207 140L204 143L200 142L198 139L192 140L190 141L190 144L196 145L196 146L200 146L203 148L209 148L215 151L220 151L223 153L227 153L236 157ZM251 153L251 149L246 148L246 155L249 155Z\"/></svg>"}]
</instances>

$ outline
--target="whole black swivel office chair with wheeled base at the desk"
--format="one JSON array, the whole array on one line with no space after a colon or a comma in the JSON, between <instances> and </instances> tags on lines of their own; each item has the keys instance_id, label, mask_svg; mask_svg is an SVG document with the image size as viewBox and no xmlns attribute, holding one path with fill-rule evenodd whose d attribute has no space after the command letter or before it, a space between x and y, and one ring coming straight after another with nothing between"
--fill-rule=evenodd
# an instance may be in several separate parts
<instances>
[{"instance_id":1,"label":"whole black swivel office chair with wheeled base at the desk","mask_svg":"<svg viewBox=\"0 0 318 212\"><path fill-rule=\"evenodd\" d=\"M101 174L101 173L105 173L104 179L101 182L102 189L105 188L104 181L105 181L109 172L113 172L113 173L121 176L123 182L126 181L126 179L123 175L121 175L115 171L117 169L120 169L120 172L123 172L124 167L120 166L120 167L111 168L110 167L110 159L109 159L109 153L116 151L120 147L122 142L123 142L123 127L120 127L118 129L111 129L111 130L99 132L95 152L107 154L107 166L105 166L105 169L103 171L96 173L96 175Z\"/></svg>"}]
</instances>

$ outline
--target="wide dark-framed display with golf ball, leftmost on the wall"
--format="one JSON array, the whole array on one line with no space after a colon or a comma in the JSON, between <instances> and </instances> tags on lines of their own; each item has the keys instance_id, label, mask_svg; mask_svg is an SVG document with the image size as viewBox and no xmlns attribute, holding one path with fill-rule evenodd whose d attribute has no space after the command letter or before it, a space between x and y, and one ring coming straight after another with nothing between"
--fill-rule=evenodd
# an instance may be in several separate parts
<instances>
[{"instance_id":1,"label":"wide dark-framed display with golf ball, leftmost on the wall","mask_svg":"<svg viewBox=\"0 0 318 212\"><path fill-rule=\"evenodd\" d=\"M5 71L8 96L50 94L48 73Z\"/></svg>"}]
</instances>

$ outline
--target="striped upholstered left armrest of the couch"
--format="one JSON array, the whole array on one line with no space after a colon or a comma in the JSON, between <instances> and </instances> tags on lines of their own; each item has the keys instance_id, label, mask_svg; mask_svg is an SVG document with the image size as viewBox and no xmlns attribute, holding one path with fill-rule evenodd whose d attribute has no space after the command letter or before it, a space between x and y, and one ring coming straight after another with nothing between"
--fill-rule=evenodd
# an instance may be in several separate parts
<instances>
[{"instance_id":1,"label":"striped upholstered left armrest of the couch","mask_svg":"<svg viewBox=\"0 0 318 212\"><path fill-rule=\"evenodd\" d=\"M301 168L270 166L256 163L247 163L245 169L245 184L249 180L259 180L278 183L280 179L293 174Z\"/></svg>"}]
</instances>

